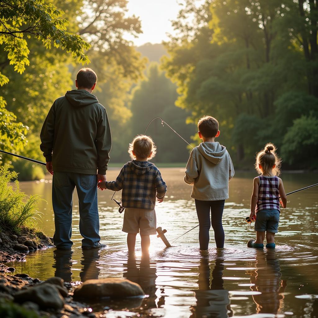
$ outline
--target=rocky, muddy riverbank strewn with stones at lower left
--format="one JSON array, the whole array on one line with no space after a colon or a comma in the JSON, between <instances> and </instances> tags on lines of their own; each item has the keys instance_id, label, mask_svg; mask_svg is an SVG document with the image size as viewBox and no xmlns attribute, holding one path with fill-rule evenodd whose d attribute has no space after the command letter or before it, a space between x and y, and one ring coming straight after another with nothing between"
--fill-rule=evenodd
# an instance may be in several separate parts
<instances>
[{"instance_id":1,"label":"rocky, muddy riverbank strewn with stones at lower left","mask_svg":"<svg viewBox=\"0 0 318 318\"><path fill-rule=\"evenodd\" d=\"M15 274L15 268L6 266L13 260L25 261L29 251L53 246L51 239L40 231L23 230L20 234L18 236L10 231L0 233L0 316L96 317L89 306L72 300L70 290L75 284L66 283L58 277L42 281L27 273Z\"/></svg>"}]
</instances>

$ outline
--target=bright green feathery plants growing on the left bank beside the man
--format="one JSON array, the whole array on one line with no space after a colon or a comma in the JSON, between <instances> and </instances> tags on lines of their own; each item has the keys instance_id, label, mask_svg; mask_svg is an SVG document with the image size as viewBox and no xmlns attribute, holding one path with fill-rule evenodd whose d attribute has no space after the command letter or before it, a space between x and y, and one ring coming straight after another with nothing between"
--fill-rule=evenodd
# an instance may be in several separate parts
<instances>
[{"instance_id":1,"label":"bright green feathery plants growing on the left bank beside the man","mask_svg":"<svg viewBox=\"0 0 318 318\"><path fill-rule=\"evenodd\" d=\"M19 233L22 228L34 228L40 218L37 211L39 196L29 198L21 192L19 182L14 187L10 182L17 178L16 172L9 171L8 165L0 167L0 230Z\"/></svg>"}]
</instances>

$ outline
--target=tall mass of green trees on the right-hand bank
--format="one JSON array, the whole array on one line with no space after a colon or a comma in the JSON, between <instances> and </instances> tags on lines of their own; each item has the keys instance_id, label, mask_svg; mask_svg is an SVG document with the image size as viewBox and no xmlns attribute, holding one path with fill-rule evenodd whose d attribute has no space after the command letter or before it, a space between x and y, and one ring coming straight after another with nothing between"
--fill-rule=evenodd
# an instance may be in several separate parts
<instances>
[{"instance_id":1,"label":"tall mass of green trees on the right-hand bank","mask_svg":"<svg viewBox=\"0 0 318 318\"><path fill-rule=\"evenodd\" d=\"M163 67L178 86L176 105L191 111L194 122L216 117L219 141L236 153L236 164L249 162L266 142L287 154L285 143L302 115L312 118L314 129L316 12L311 1L206 0L197 6L187 0L174 21L178 36L165 44L170 56ZM296 157L288 160L292 167L313 165L312 157Z\"/></svg>"}]
</instances>

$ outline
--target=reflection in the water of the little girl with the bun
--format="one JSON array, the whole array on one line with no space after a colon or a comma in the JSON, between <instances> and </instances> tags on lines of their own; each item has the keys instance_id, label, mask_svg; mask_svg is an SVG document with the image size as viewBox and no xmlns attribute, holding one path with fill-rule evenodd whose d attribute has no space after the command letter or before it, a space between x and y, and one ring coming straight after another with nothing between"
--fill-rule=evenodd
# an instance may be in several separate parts
<instances>
[{"instance_id":1,"label":"reflection in the water of the little girl with the bun","mask_svg":"<svg viewBox=\"0 0 318 318\"><path fill-rule=\"evenodd\" d=\"M284 307L286 280L281 279L280 261L275 250L258 250L256 270L251 273L251 289L261 294L253 295L257 314L277 314Z\"/></svg>"}]
</instances>

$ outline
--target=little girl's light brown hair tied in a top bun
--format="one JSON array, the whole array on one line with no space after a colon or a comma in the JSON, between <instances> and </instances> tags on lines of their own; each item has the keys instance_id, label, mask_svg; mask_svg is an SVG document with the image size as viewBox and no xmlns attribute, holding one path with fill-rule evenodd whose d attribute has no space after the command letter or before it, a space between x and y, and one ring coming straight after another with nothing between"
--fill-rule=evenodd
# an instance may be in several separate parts
<instances>
[{"instance_id":1,"label":"little girl's light brown hair tied in a top bun","mask_svg":"<svg viewBox=\"0 0 318 318\"><path fill-rule=\"evenodd\" d=\"M262 170L259 169L259 165ZM275 165L275 168L273 166ZM281 159L276 154L276 147L272 143L267 143L263 150L256 155L255 169L259 174L273 173L275 176L280 175Z\"/></svg>"}]
</instances>

